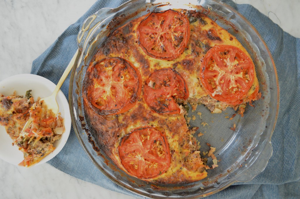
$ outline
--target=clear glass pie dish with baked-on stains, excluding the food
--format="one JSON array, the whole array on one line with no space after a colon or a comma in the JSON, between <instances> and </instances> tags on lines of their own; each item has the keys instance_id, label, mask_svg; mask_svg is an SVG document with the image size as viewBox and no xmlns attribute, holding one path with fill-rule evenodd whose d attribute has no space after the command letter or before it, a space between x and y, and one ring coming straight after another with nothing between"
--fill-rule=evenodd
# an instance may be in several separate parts
<instances>
[{"instance_id":1,"label":"clear glass pie dish with baked-on stains, excluding the food","mask_svg":"<svg viewBox=\"0 0 300 199\"><path fill-rule=\"evenodd\" d=\"M97 146L85 120L82 84L86 69L105 42L107 35L148 12L181 8L205 12L218 25L228 30L247 49L256 66L262 98L249 106L244 117L232 117L235 111L227 108L221 114L211 112L199 105L190 116L202 113L191 126L200 126L205 132L198 138L200 150L208 151L205 143L216 147L214 153L220 160L218 167L208 171L208 177L193 183L153 184L127 175L119 169ZM272 154L271 136L279 108L279 84L277 72L262 37L241 14L220 1L191 0L167 2L161 0L132 0L111 9L102 8L89 16L77 36L79 55L73 68L69 88L69 105L72 123L80 144L92 162L116 184L134 193L151 198L201 198L214 194L231 184L249 181L262 172ZM231 120L225 118L232 117ZM207 125L203 125L206 123ZM232 126L235 125L233 131ZM206 147L206 148L205 148ZM208 165L212 165L211 159Z\"/></svg>"}]
</instances>

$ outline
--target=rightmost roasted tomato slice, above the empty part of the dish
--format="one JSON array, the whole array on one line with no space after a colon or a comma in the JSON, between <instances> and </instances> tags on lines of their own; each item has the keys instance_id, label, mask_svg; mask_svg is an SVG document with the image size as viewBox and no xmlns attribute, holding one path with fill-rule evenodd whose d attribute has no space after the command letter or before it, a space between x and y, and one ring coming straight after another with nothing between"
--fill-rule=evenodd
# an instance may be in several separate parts
<instances>
[{"instance_id":1,"label":"rightmost roasted tomato slice, above the empty part of the dish","mask_svg":"<svg viewBox=\"0 0 300 199\"><path fill-rule=\"evenodd\" d=\"M221 102L241 104L254 81L254 64L241 49L218 45L201 63L200 79L208 94Z\"/></svg>"}]
</instances>

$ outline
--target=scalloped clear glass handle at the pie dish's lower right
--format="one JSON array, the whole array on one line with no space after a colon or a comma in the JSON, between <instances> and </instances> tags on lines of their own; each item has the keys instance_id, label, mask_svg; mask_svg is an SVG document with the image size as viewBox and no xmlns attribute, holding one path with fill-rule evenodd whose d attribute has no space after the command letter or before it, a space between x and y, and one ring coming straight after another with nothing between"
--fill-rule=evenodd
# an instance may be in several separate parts
<instances>
[{"instance_id":1,"label":"scalloped clear glass handle at the pie dish's lower right","mask_svg":"<svg viewBox=\"0 0 300 199\"><path fill-rule=\"evenodd\" d=\"M259 153L259 156L257 156L258 158L256 158L256 160L251 160L251 158L249 158L250 160L247 160L243 166L248 167L248 169L246 170L246 172L240 173L239 175L236 176L236 181L238 182L247 182L252 180L255 176L257 176L258 174L260 174L262 171L265 170L269 159L272 156L272 145L271 145L271 141L268 141L265 144L265 147L263 149L258 149L258 150L253 150L252 153ZM251 164L251 162L253 162Z\"/></svg>"}]
</instances>

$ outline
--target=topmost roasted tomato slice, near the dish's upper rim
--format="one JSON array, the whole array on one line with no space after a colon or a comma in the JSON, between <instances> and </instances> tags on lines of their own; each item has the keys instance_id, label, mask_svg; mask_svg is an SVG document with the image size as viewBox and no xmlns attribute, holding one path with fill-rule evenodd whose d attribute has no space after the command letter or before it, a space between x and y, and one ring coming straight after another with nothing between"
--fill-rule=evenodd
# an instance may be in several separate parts
<instances>
[{"instance_id":1,"label":"topmost roasted tomato slice, near the dish's upper rim","mask_svg":"<svg viewBox=\"0 0 300 199\"><path fill-rule=\"evenodd\" d=\"M154 58L177 58L190 39L190 23L186 16L174 10L151 13L143 20L137 34L143 50Z\"/></svg>"}]
</instances>

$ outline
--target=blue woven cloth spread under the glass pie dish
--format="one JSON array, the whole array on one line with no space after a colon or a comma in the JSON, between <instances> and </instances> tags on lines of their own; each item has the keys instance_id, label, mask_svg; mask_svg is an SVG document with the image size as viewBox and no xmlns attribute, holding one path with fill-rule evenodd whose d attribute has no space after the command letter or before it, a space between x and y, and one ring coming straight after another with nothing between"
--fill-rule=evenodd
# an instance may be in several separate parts
<instances>
[{"instance_id":1,"label":"blue woven cloth spread under the glass pie dish","mask_svg":"<svg viewBox=\"0 0 300 199\"><path fill-rule=\"evenodd\" d=\"M70 25L36 60L31 73L57 84L77 49L76 36L82 22L102 7L118 7L126 0L99 0L80 19ZM248 4L224 0L246 17L259 31L270 49L278 72L280 108L272 136L273 155L266 169L253 180L234 185L207 198L300 198L300 39L292 37L267 16ZM297 19L291 19L297 20ZM61 87L68 99L70 76ZM106 189L143 198L109 180L91 162L80 146L74 129L67 144L48 162L59 170Z\"/></svg>"}]
</instances>

